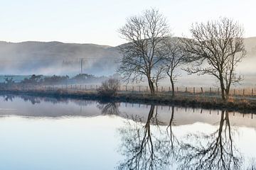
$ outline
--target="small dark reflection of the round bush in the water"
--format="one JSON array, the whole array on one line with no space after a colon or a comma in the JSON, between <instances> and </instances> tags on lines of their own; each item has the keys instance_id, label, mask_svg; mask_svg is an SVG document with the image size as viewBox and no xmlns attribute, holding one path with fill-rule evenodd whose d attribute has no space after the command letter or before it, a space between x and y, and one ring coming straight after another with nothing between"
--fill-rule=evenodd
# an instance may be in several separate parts
<instances>
[{"instance_id":1,"label":"small dark reflection of the round bush in the water","mask_svg":"<svg viewBox=\"0 0 256 170\"><path fill-rule=\"evenodd\" d=\"M97 108L102 111L102 115L119 115L119 103L100 103Z\"/></svg>"}]
</instances>

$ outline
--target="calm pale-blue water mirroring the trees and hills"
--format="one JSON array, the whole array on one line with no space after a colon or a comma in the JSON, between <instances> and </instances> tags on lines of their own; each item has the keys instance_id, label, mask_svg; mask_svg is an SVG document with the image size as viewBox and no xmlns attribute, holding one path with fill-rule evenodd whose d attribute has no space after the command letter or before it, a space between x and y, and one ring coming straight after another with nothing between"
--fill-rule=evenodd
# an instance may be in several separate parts
<instances>
[{"instance_id":1,"label":"calm pale-blue water mirroring the trees and hills","mask_svg":"<svg viewBox=\"0 0 256 170\"><path fill-rule=\"evenodd\" d=\"M252 114L0 96L0 169L253 169Z\"/></svg>"}]
</instances>

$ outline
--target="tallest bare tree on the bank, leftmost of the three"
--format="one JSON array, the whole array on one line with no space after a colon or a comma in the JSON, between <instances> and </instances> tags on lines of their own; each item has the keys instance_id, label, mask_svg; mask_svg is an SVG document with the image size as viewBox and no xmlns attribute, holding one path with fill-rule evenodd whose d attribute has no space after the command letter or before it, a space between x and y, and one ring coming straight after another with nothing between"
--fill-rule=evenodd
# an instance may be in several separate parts
<instances>
[{"instance_id":1,"label":"tallest bare tree on the bank, leftmost of the three","mask_svg":"<svg viewBox=\"0 0 256 170\"><path fill-rule=\"evenodd\" d=\"M127 18L119 33L128 43L120 47L123 57L118 72L128 82L142 81L146 77L151 94L154 94L152 75L159 67L162 42L170 33L166 18L151 8L142 15Z\"/></svg>"}]
</instances>

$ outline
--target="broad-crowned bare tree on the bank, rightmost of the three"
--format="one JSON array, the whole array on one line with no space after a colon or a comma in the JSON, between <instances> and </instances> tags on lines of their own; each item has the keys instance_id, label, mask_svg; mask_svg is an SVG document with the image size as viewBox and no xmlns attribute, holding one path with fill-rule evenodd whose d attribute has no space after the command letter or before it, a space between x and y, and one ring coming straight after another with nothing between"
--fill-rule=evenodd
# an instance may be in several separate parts
<instances>
[{"instance_id":1,"label":"broad-crowned bare tree on the bank, rightmost of the three","mask_svg":"<svg viewBox=\"0 0 256 170\"><path fill-rule=\"evenodd\" d=\"M191 39L181 38L184 50L190 54L188 61L193 62L188 73L216 77L223 101L228 101L231 84L242 80L235 74L235 68L246 53L242 26L230 18L220 18L194 24L191 34Z\"/></svg>"}]
</instances>

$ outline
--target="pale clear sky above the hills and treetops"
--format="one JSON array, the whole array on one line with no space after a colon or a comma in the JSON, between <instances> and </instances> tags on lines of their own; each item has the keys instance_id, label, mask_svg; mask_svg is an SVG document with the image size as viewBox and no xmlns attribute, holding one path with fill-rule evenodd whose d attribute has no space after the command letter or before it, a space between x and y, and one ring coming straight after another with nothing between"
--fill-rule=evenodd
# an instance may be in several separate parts
<instances>
[{"instance_id":1,"label":"pale clear sky above the hills and treetops","mask_svg":"<svg viewBox=\"0 0 256 170\"><path fill-rule=\"evenodd\" d=\"M233 18L256 36L255 0L0 0L0 40L60 41L120 45L117 30L147 8L166 16L174 36L188 36L191 24Z\"/></svg>"}]
</instances>

